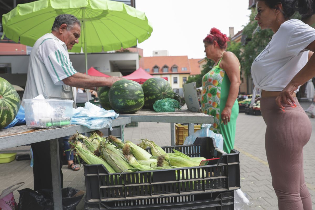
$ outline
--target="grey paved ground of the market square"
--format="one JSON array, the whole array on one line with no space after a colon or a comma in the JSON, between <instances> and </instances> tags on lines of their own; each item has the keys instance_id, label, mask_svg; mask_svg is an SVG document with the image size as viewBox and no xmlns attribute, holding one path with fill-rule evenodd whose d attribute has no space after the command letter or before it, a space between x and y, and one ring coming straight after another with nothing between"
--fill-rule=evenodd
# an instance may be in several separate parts
<instances>
[{"instance_id":1,"label":"grey paved ground of the market square","mask_svg":"<svg viewBox=\"0 0 315 210\"><path fill-rule=\"evenodd\" d=\"M309 104L302 106L307 108ZM315 119L311 119L313 132L311 140L304 147L304 173L307 186L312 195L313 210L315 210ZM235 149L240 151L241 189L254 203L250 209L277 210L277 198L272 189L271 176L266 159L264 135L266 125L261 116L251 116L240 113L237 120ZM161 146L170 145L170 124L141 122L136 128L124 128L126 139L152 139ZM136 142L135 140L132 140ZM27 150L29 147L11 148L9 150ZM20 153L20 152L19 152ZM0 164L0 191L10 185L24 181L22 188L32 188L33 176L30 161L13 161ZM72 171L63 166L64 187L74 187L85 190L83 170ZM17 190L14 192L19 198ZM84 209L80 202L77 209Z\"/></svg>"}]
</instances>

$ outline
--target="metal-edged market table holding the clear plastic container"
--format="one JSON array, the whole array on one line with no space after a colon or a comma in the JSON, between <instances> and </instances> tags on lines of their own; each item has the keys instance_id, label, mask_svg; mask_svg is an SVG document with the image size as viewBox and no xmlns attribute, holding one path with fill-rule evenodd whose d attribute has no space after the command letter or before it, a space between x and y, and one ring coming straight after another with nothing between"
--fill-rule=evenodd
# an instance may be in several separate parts
<instances>
[{"instance_id":1,"label":"metal-edged market table holding the clear plastic container","mask_svg":"<svg viewBox=\"0 0 315 210\"><path fill-rule=\"evenodd\" d=\"M130 117L118 117L112 120L112 127L128 124ZM108 127L105 127L108 128ZM54 209L62 210L61 178L59 165L58 138L69 136L76 132L93 131L82 125L69 125L62 128L38 129L26 125L0 130L0 150L50 140L51 172L53 181Z\"/></svg>"}]
</instances>

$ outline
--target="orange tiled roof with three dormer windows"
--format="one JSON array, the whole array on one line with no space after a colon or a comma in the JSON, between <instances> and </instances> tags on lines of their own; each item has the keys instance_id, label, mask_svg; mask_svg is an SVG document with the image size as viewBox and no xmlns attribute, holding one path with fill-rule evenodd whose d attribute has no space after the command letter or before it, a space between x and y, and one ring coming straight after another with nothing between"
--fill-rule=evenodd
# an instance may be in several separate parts
<instances>
[{"instance_id":1,"label":"orange tiled roof with three dormer windows","mask_svg":"<svg viewBox=\"0 0 315 210\"><path fill-rule=\"evenodd\" d=\"M199 59L198 59L199 60ZM154 73L153 67L159 67L159 72ZM169 67L168 72L163 72L163 66L167 65ZM172 72L172 66L176 65L177 72ZM153 56L153 57L144 57L144 68L150 69L148 73L150 74L190 74L191 67L189 65L187 55L184 56ZM182 68L186 68L187 70L182 70Z\"/></svg>"}]
</instances>

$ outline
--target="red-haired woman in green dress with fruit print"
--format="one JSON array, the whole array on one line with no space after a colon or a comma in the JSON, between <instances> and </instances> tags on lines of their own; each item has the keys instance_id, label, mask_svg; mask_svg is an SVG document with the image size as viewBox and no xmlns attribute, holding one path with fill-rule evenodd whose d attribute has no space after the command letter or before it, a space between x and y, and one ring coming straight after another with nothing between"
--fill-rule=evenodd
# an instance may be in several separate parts
<instances>
[{"instance_id":1,"label":"red-haired woman in green dress with fruit print","mask_svg":"<svg viewBox=\"0 0 315 210\"><path fill-rule=\"evenodd\" d=\"M203 40L206 57L215 65L202 78L201 96L201 110L214 116L210 130L223 136L226 153L234 148L241 84L239 60L232 52L225 51L228 40L226 34L216 28L212 28Z\"/></svg>"}]
</instances>

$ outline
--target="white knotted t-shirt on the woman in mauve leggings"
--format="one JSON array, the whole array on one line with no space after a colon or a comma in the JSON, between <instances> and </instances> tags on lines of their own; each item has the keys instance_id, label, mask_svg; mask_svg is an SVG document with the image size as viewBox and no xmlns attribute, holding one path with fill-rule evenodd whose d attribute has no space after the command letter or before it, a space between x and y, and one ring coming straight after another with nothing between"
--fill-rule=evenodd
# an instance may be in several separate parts
<instances>
[{"instance_id":1,"label":"white knotted t-shirt on the woman in mauve leggings","mask_svg":"<svg viewBox=\"0 0 315 210\"><path fill-rule=\"evenodd\" d=\"M307 63L308 51L305 48L314 40L315 29L301 20L292 19L281 24L252 64L255 88L251 105L258 90L261 94L261 90L282 91L287 86Z\"/></svg>"}]
</instances>

